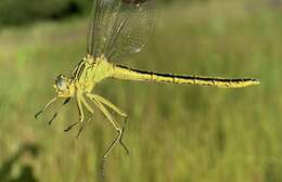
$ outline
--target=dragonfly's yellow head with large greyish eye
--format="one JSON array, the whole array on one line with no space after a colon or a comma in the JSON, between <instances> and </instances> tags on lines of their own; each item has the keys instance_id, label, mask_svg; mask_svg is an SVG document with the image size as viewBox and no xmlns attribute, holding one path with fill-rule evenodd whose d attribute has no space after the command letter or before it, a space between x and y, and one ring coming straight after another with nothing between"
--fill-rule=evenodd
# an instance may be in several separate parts
<instances>
[{"instance_id":1,"label":"dragonfly's yellow head with large greyish eye","mask_svg":"<svg viewBox=\"0 0 282 182\"><path fill-rule=\"evenodd\" d=\"M72 79L66 78L64 75L59 75L53 83L57 98L73 98L75 94L75 86Z\"/></svg>"}]
</instances>

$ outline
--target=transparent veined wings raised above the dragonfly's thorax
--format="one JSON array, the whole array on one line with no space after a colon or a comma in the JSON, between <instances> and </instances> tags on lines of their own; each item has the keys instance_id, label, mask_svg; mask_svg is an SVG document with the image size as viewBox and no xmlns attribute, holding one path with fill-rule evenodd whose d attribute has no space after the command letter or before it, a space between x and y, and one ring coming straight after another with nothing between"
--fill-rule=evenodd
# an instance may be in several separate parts
<instances>
[{"instance_id":1,"label":"transparent veined wings raised above the dragonfly's thorax","mask_svg":"<svg viewBox=\"0 0 282 182\"><path fill-rule=\"evenodd\" d=\"M87 52L118 61L140 52L153 27L153 0L94 0Z\"/></svg>"}]
</instances>

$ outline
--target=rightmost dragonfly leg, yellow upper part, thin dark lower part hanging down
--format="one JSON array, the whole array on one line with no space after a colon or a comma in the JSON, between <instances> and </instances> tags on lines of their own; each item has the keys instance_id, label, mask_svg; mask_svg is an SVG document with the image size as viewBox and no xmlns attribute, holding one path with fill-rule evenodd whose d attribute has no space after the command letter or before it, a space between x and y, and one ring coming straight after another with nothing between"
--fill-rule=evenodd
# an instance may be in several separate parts
<instances>
[{"instance_id":1,"label":"rightmost dragonfly leg, yellow upper part, thin dark lower part hanging down","mask_svg":"<svg viewBox=\"0 0 282 182\"><path fill-rule=\"evenodd\" d=\"M126 153L128 154L129 151L128 148L126 147L126 145L124 144L123 142L123 138L124 138L124 132L125 132L125 128L126 128L126 123L127 123L127 119L128 119L128 116L126 113L121 112L117 106L115 106L112 102L110 102L108 100L100 96L100 95L97 95L97 94L87 94L88 98L90 98L91 100L95 100L106 106L108 106L111 109L113 109L114 112L116 112L118 115L120 115L123 118L125 118L125 125L123 126L123 132L121 132L121 136L119 139L119 143L123 145L124 148L126 148Z\"/></svg>"}]
</instances>

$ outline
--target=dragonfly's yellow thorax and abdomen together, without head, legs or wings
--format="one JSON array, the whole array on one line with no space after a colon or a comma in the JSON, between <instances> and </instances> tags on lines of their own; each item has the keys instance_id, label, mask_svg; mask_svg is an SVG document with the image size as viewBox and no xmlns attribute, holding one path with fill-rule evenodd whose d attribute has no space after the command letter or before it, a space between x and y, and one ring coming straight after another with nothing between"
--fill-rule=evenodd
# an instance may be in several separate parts
<instances>
[{"instance_id":1,"label":"dragonfly's yellow thorax and abdomen together, without head, legs or wings","mask_svg":"<svg viewBox=\"0 0 282 182\"><path fill-rule=\"evenodd\" d=\"M218 88L244 88L259 84L259 81L254 78L213 78L133 69L110 63L104 56L95 61L92 57L85 57L84 60L85 62L81 63L82 66L78 65L80 72L77 72L78 75L74 77L80 86L84 86L86 92L91 92L97 83L110 77L120 80L171 82Z\"/></svg>"}]
</instances>

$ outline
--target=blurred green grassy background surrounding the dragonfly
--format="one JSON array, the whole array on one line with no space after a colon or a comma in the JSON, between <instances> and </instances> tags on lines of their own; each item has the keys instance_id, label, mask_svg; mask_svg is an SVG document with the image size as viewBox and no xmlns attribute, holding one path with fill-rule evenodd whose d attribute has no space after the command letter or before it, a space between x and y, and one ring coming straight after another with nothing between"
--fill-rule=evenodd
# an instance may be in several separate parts
<instances>
[{"instance_id":1,"label":"blurred green grassy background surrounding the dragonfly","mask_svg":"<svg viewBox=\"0 0 282 182\"><path fill-rule=\"evenodd\" d=\"M54 121L34 115L86 52L91 0L1 0L0 181L98 181L116 132L103 115L77 130L74 103ZM158 1L149 46L125 65L165 73L255 77L225 90L106 80L97 92L129 115L126 156L111 182L282 181L282 5L279 0ZM119 118L121 120L121 118Z\"/></svg>"}]
</instances>

